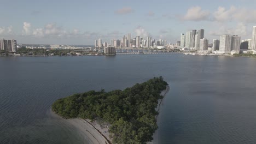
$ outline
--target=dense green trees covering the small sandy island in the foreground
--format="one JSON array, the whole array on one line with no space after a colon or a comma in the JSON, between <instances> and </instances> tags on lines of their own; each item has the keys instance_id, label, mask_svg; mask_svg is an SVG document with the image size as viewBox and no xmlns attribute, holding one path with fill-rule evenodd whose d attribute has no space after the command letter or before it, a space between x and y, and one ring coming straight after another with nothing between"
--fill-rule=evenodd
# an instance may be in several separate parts
<instances>
[{"instance_id":1,"label":"dense green trees covering the small sandy island in the foreground","mask_svg":"<svg viewBox=\"0 0 256 144\"><path fill-rule=\"evenodd\" d=\"M146 143L158 129L155 108L167 85L161 76L154 77L124 91L73 94L56 100L52 109L64 118L101 119L111 124L113 143Z\"/></svg>"}]
</instances>

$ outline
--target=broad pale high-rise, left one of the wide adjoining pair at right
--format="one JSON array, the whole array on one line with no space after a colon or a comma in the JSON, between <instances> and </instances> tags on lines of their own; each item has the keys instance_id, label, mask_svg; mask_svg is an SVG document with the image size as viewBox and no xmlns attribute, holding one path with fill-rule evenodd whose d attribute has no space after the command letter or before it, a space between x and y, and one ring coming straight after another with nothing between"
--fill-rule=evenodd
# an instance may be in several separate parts
<instances>
[{"instance_id":1,"label":"broad pale high-rise, left one of the wide adjoining pair at right","mask_svg":"<svg viewBox=\"0 0 256 144\"><path fill-rule=\"evenodd\" d=\"M221 35L219 38L219 52L230 53L231 40L232 40L232 35Z\"/></svg>"}]
</instances>

